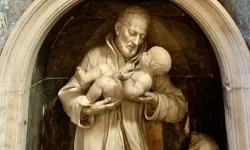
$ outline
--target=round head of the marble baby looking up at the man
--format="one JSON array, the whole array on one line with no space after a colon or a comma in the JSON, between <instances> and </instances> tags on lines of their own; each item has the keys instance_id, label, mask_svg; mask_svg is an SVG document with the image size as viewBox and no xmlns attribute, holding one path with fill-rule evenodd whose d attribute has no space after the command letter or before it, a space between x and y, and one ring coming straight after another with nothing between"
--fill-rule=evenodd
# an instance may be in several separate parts
<instances>
[{"instance_id":1,"label":"round head of the marble baby looking up at the man","mask_svg":"<svg viewBox=\"0 0 250 150\"><path fill-rule=\"evenodd\" d=\"M143 53L139 63L141 69L149 69L153 75L163 75L170 70L172 60L167 50L154 46Z\"/></svg>"}]
</instances>

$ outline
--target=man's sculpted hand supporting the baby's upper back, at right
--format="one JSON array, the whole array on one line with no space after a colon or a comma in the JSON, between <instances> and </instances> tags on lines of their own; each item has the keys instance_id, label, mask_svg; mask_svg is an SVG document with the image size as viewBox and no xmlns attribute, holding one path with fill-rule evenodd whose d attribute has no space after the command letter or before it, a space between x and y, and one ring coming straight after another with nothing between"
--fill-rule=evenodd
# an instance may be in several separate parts
<instances>
[{"instance_id":1,"label":"man's sculpted hand supporting the baby's upper back, at right","mask_svg":"<svg viewBox=\"0 0 250 150\"><path fill-rule=\"evenodd\" d=\"M153 92L145 92L143 96L139 96L132 101L148 103L152 109L156 109L159 103L157 94Z\"/></svg>"}]
</instances>

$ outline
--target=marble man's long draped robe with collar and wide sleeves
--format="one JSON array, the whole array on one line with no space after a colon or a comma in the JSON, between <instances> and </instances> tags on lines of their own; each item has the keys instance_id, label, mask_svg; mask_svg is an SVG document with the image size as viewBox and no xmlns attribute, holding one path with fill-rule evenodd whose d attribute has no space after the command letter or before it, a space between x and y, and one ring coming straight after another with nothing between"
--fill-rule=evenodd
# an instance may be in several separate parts
<instances>
[{"instance_id":1,"label":"marble man's long draped robe with collar and wide sleeves","mask_svg":"<svg viewBox=\"0 0 250 150\"><path fill-rule=\"evenodd\" d=\"M143 43L138 52L125 61L115 47L114 35L109 34L106 44L91 49L80 66L85 71L99 64L108 64L116 72L132 69L146 48ZM90 105L85 96L89 87L90 84L80 86L74 75L58 93L65 112L77 125L75 150L147 150L146 120L177 123L187 111L182 92L165 75L153 79L151 89L159 98L155 110L148 104L122 101L115 109L83 118L80 116L82 107ZM80 100L85 106L79 105Z\"/></svg>"}]
</instances>

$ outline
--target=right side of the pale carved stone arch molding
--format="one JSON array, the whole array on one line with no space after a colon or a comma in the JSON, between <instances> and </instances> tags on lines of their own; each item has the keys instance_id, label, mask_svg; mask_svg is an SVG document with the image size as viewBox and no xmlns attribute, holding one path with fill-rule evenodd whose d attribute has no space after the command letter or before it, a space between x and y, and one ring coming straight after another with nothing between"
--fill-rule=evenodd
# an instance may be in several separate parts
<instances>
[{"instance_id":1,"label":"right side of the pale carved stone arch molding","mask_svg":"<svg viewBox=\"0 0 250 150\"><path fill-rule=\"evenodd\" d=\"M225 89L229 149L250 149L250 54L238 27L217 0L172 2L200 25L215 51Z\"/></svg>"}]
</instances>

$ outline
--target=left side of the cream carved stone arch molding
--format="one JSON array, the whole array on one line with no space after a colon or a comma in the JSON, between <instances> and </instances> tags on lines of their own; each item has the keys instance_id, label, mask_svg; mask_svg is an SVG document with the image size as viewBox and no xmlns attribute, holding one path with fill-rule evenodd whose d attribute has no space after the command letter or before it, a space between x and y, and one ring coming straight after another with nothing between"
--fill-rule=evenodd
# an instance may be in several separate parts
<instances>
[{"instance_id":1,"label":"left side of the cream carved stone arch molding","mask_svg":"<svg viewBox=\"0 0 250 150\"><path fill-rule=\"evenodd\" d=\"M79 0L35 0L13 28L0 56L0 149L25 149L29 88L47 33Z\"/></svg>"}]
</instances>

